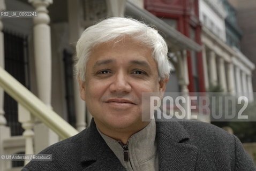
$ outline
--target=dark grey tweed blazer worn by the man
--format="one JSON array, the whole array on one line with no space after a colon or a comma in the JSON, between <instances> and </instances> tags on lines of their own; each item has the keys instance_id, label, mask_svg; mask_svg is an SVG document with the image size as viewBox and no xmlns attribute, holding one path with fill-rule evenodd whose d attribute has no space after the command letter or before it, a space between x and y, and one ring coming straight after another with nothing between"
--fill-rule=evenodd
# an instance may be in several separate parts
<instances>
[{"instance_id":1,"label":"dark grey tweed blazer worn by the man","mask_svg":"<svg viewBox=\"0 0 256 171\"><path fill-rule=\"evenodd\" d=\"M156 122L159 170L256 170L239 139L221 128L198 121ZM28 170L125 170L96 129L81 133L47 147L52 161L31 161ZM145 170L149 171L149 170Z\"/></svg>"}]
</instances>

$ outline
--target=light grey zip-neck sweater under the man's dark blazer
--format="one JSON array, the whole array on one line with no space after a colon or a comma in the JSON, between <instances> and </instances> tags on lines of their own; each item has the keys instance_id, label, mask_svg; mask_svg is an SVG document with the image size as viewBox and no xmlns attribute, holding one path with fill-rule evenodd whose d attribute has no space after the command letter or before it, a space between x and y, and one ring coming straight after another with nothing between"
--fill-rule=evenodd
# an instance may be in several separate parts
<instances>
[{"instance_id":1,"label":"light grey zip-neck sweater under the man's dark blazer","mask_svg":"<svg viewBox=\"0 0 256 171\"><path fill-rule=\"evenodd\" d=\"M129 171L154 171L158 170L158 152L156 141L155 121L150 122L144 129L133 134L127 143L129 160L124 160L124 149L122 143L101 133L104 141L115 153L121 164Z\"/></svg>"}]
</instances>

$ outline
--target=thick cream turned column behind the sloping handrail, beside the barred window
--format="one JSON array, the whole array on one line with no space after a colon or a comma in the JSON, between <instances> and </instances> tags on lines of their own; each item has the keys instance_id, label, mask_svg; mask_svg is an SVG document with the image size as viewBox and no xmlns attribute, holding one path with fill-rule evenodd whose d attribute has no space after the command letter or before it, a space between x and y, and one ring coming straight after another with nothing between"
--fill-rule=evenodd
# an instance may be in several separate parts
<instances>
[{"instance_id":1,"label":"thick cream turned column behind the sloping handrail, beside the barred window","mask_svg":"<svg viewBox=\"0 0 256 171\"><path fill-rule=\"evenodd\" d=\"M52 0L28 0L37 12L34 18L34 53L38 97L51 108L51 35L47 7ZM35 153L58 142L58 136L43 123L36 121Z\"/></svg>"}]
</instances>

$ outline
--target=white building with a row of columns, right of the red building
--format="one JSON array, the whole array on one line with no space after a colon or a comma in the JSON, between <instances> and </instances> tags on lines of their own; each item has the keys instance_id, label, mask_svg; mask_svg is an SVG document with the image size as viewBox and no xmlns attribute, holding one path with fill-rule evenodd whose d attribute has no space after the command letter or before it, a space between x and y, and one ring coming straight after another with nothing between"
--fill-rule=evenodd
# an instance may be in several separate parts
<instances>
[{"instance_id":1,"label":"white building with a row of columns, right of the red building","mask_svg":"<svg viewBox=\"0 0 256 171\"><path fill-rule=\"evenodd\" d=\"M199 2L206 88L219 85L224 92L247 96L252 102L252 70L255 66L237 48L226 43L227 11L222 1Z\"/></svg>"}]
</instances>

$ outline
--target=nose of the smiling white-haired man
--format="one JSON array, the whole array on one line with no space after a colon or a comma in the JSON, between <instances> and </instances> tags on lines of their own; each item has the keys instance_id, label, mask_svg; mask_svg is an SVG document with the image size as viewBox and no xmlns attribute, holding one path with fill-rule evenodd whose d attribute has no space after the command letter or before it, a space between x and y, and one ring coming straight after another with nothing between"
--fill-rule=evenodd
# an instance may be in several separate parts
<instances>
[{"instance_id":1,"label":"nose of the smiling white-haired man","mask_svg":"<svg viewBox=\"0 0 256 171\"><path fill-rule=\"evenodd\" d=\"M124 72L116 73L114 80L112 81L110 87L111 92L118 92L118 93L127 93L132 90L131 85L128 81L128 75Z\"/></svg>"}]
</instances>

